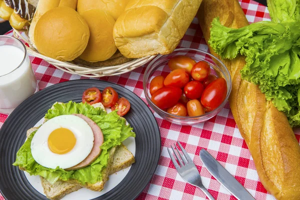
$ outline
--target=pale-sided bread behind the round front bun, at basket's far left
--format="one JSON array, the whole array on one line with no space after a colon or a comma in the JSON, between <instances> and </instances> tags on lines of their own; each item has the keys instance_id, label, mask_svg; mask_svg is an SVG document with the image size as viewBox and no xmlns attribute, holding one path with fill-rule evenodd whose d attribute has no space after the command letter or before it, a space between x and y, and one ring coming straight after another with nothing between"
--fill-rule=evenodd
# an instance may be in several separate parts
<instances>
[{"instance_id":1,"label":"pale-sided bread behind the round front bun, at basket's far left","mask_svg":"<svg viewBox=\"0 0 300 200\"><path fill-rule=\"evenodd\" d=\"M35 25L38 21L38 19L48 10L58 7L60 0L38 0L35 13L33 15L32 21L30 23L28 36L30 38L30 41L35 44L34 39L34 30Z\"/></svg>"}]
</instances>

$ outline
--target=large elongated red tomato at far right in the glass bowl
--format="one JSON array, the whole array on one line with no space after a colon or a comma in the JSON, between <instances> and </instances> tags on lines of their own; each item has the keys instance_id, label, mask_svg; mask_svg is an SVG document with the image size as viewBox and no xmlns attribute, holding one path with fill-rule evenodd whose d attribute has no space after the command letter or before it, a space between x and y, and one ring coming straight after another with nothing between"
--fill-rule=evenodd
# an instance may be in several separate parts
<instances>
[{"instance_id":1,"label":"large elongated red tomato at far right in the glass bowl","mask_svg":"<svg viewBox=\"0 0 300 200\"><path fill-rule=\"evenodd\" d=\"M217 78L204 89L201 96L201 103L208 111L211 111L223 102L226 94L226 80L224 78Z\"/></svg>"}]
</instances>

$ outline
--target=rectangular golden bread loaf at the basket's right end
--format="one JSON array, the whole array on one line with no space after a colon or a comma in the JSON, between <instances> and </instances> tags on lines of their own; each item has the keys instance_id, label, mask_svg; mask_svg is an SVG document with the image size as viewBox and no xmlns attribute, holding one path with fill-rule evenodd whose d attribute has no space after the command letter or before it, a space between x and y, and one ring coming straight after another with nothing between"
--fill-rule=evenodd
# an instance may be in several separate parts
<instances>
[{"instance_id":1,"label":"rectangular golden bread loaf at the basket's right end","mask_svg":"<svg viewBox=\"0 0 300 200\"><path fill-rule=\"evenodd\" d=\"M114 24L116 47L130 58L172 52L200 3L201 0L130 0Z\"/></svg>"}]
</instances>

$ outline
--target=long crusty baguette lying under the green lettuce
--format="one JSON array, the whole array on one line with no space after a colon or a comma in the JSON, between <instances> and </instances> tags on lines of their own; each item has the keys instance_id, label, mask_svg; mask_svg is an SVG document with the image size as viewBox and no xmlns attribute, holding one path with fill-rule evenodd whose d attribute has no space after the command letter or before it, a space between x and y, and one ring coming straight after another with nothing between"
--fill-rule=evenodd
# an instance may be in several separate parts
<instances>
[{"instance_id":1,"label":"long crusty baguette lying under the green lettuce","mask_svg":"<svg viewBox=\"0 0 300 200\"><path fill-rule=\"evenodd\" d=\"M197 15L206 42L215 17L231 28L248 25L237 0L203 0ZM241 78L243 56L221 60L232 78L230 108L261 183L277 199L300 199L300 148L286 115L265 99L257 85Z\"/></svg>"}]
</instances>

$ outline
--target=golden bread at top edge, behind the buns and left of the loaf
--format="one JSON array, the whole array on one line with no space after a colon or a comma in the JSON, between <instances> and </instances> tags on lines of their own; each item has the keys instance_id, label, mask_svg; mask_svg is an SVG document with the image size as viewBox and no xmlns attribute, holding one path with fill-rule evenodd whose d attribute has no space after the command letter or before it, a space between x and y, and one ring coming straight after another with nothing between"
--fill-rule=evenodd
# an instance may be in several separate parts
<instances>
[{"instance_id":1,"label":"golden bread at top edge, behind the buns and left of the loaf","mask_svg":"<svg viewBox=\"0 0 300 200\"><path fill-rule=\"evenodd\" d=\"M128 2L129 0L78 0L77 12L99 8L108 12L116 20Z\"/></svg>"}]
</instances>

